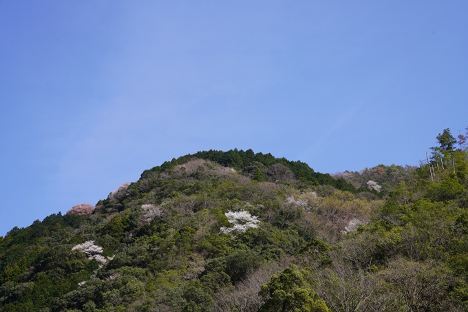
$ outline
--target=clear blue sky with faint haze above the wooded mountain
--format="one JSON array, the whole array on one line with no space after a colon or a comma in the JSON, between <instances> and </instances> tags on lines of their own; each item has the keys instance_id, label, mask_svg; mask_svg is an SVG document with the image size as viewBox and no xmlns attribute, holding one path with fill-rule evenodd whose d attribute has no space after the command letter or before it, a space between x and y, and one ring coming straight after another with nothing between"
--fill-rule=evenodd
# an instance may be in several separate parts
<instances>
[{"instance_id":1,"label":"clear blue sky with faint haze above the wooded mountain","mask_svg":"<svg viewBox=\"0 0 468 312\"><path fill-rule=\"evenodd\" d=\"M468 126L467 1L0 1L0 235L164 160L417 165Z\"/></svg>"}]
</instances>

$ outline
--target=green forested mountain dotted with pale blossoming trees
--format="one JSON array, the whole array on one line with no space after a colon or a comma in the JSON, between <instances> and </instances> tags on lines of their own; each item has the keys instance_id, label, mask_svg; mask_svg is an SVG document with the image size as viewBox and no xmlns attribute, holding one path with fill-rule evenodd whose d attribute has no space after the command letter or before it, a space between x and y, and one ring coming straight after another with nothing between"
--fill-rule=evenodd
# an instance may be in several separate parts
<instances>
[{"instance_id":1,"label":"green forested mountain dotted with pale blossoming trees","mask_svg":"<svg viewBox=\"0 0 468 312\"><path fill-rule=\"evenodd\" d=\"M467 311L462 138L333 176L251 149L173 158L0 236L0 311Z\"/></svg>"}]
</instances>

